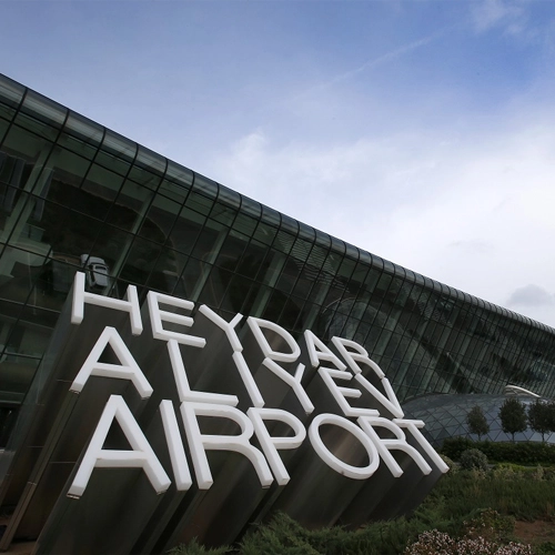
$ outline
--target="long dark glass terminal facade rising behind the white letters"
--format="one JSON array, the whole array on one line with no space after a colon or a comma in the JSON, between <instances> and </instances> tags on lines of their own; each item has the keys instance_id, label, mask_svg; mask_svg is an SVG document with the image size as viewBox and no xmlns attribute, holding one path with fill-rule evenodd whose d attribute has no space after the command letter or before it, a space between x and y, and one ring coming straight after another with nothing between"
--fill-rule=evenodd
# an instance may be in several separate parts
<instances>
[{"instance_id":1,"label":"long dark glass terminal facade rising behind the white letters","mask_svg":"<svg viewBox=\"0 0 555 555\"><path fill-rule=\"evenodd\" d=\"M364 345L400 401L553 396L554 330L415 274L0 77L0 445L78 270ZM39 370L38 370L39 369Z\"/></svg>"}]
</instances>

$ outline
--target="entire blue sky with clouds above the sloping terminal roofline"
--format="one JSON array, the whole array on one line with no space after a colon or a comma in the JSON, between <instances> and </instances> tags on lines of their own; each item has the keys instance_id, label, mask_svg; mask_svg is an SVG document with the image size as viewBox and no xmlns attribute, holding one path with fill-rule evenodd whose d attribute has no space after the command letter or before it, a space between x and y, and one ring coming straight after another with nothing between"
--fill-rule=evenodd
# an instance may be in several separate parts
<instances>
[{"instance_id":1,"label":"entire blue sky with clouds above the sloping terminal roofline","mask_svg":"<svg viewBox=\"0 0 555 555\"><path fill-rule=\"evenodd\" d=\"M555 1L0 1L0 72L555 326Z\"/></svg>"}]
</instances>

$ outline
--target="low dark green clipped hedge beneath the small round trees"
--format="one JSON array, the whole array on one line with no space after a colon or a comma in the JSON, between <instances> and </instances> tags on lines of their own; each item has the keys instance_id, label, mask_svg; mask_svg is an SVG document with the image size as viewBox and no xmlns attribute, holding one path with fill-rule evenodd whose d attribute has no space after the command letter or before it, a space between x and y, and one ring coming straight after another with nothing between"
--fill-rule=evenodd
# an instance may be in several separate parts
<instances>
[{"instance_id":1,"label":"low dark green clipped hedge beneath the small round trees","mask_svg":"<svg viewBox=\"0 0 555 555\"><path fill-rule=\"evenodd\" d=\"M441 453L460 461L462 453L470 448L482 451L490 462L555 465L555 445L549 443L474 442L467 437L452 437L445 440Z\"/></svg>"}]
</instances>

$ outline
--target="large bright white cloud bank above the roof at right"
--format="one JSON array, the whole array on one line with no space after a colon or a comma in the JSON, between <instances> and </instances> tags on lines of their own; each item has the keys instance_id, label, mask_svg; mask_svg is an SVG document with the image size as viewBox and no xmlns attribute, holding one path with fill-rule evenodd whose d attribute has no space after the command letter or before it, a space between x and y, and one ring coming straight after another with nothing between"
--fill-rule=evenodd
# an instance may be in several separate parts
<instances>
[{"instance_id":1,"label":"large bright white cloud bank above the roof at right","mask_svg":"<svg viewBox=\"0 0 555 555\"><path fill-rule=\"evenodd\" d=\"M534 112L534 115L532 113ZM211 174L265 204L495 304L555 258L555 129L548 111L495 131L406 132L314 147L258 130ZM513 305L555 326L546 305Z\"/></svg>"}]
</instances>

